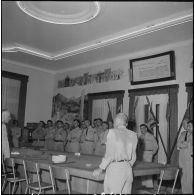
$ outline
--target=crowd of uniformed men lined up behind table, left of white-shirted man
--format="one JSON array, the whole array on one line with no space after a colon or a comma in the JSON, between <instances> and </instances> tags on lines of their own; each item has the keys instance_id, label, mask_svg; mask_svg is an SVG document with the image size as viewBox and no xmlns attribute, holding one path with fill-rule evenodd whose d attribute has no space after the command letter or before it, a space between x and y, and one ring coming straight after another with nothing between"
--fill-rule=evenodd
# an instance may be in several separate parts
<instances>
[{"instance_id":1,"label":"crowd of uniformed men lined up behind table, left of white-shirted man","mask_svg":"<svg viewBox=\"0 0 195 195\"><path fill-rule=\"evenodd\" d=\"M113 122L97 118L80 122L75 119L72 125L58 120L53 124L40 121L38 128L32 133L33 145L44 146L48 150L80 152L103 156L106 149L108 129L113 128Z\"/></svg>"}]
</instances>

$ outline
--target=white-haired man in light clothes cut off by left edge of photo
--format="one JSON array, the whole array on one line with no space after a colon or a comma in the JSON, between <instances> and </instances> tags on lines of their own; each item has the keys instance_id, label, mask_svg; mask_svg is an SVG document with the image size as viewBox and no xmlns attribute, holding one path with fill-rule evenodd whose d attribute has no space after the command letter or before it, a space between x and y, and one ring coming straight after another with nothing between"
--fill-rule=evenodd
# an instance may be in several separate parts
<instances>
[{"instance_id":1,"label":"white-haired man in light clothes cut off by left edge of photo","mask_svg":"<svg viewBox=\"0 0 195 195\"><path fill-rule=\"evenodd\" d=\"M8 135L7 135L7 128L6 123L8 123L11 120L11 115L8 110L2 111L2 155L3 159L10 157L10 147L9 147L9 141L8 141Z\"/></svg>"}]
</instances>

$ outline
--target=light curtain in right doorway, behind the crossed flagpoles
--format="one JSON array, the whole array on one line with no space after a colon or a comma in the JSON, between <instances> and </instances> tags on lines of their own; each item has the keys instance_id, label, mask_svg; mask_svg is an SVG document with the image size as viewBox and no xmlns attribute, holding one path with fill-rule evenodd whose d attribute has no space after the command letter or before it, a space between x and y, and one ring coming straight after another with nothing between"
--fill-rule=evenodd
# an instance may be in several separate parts
<instances>
[{"instance_id":1,"label":"light curtain in right doorway, behind the crossed flagpoles","mask_svg":"<svg viewBox=\"0 0 195 195\"><path fill-rule=\"evenodd\" d=\"M135 96L137 98L137 96ZM150 103L152 103L152 110L153 113L156 113L156 105L159 104L159 132L161 134L163 143L165 145L165 149L167 150L167 144L168 144L168 128L167 128L167 119L166 119L166 113L167 113L167 103L168 103L168 94L156 94L156 95L148 95ZM136 130L138 133L138 136L141 134L139 125L145 122L145 112L144 107L147 105L146 96L139 96L139 100L137 102L137 106L135 108L135 120L136 120ZM154 132L154 136L156 135L156 132ZM160 138L158 138L158 162L159 163L165 163L167 162L166 154L164 152L162 142Z\"/></svg>"}]
</instances>

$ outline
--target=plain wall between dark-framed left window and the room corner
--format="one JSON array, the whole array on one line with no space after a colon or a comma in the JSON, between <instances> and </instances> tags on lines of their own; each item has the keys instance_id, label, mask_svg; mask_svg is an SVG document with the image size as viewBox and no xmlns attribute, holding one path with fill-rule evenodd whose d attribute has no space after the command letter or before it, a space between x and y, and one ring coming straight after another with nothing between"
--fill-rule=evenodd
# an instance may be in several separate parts
<instances>
[{"instance_id":1,"label":"plain wall between dark-framed left window and the room corner","mask_svg":"<svg viewBox=\"0 0 195 195\"><path fill-rule=\"evenodd\" d=\"M47 121L51 118L54 75L39 69L24 67L3 60L2 70L29 76L25 109L27 122Z\"/></svg>"}]
</instances>

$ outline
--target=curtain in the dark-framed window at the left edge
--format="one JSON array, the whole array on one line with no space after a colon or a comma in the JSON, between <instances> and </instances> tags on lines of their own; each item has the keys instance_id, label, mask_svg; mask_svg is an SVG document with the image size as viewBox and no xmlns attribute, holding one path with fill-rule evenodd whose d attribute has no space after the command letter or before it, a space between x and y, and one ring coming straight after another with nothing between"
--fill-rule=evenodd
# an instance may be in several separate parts
<instances>
[{"instance_id":1,"label":"curtain in the dark-framed window at the left edge","mask_svg":"<svg viewBox=\"0 0 195 195\"><path fill-rule=\"evenodd\" d=\"M2 77L2 109L7 109L18 119L21 81Z\"/></svg>"}]
</instances>

